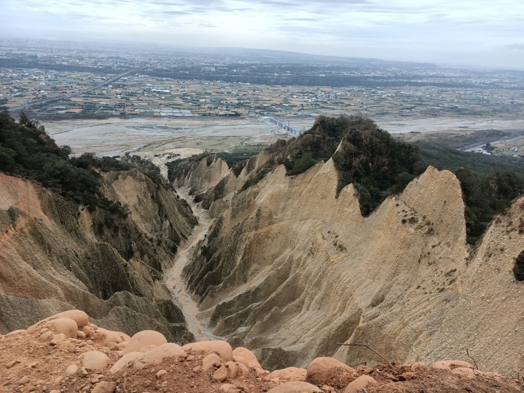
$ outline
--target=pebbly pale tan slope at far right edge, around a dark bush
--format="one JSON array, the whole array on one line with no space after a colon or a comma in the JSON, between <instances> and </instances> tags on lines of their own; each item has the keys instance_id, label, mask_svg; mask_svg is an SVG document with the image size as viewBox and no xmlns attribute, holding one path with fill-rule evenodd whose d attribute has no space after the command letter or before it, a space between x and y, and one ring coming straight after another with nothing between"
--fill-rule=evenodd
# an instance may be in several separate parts
<instances>
[{"instance_id":1,"label":"pebbly pale tan slope at far right edge, around a dark bush","mask_svg":"<svg viewBox=\"0 0 524 393\"><path fill-rule=\"evenodd\" d=\"M524 364L524 282L514 280L524 250L524 198L488 227L461 280L462 293L436 331L425 356L464 353L479 367L516 375Z\"/></svg>"}]
</instances>

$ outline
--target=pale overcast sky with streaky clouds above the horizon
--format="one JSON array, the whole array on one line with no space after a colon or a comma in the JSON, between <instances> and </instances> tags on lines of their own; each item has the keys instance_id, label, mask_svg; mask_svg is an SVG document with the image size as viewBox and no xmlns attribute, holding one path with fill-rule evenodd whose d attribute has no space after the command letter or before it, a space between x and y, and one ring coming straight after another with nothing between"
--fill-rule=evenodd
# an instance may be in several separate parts
<instances>
[{"instance_id":1,"label":"pale overcast sky with streaky clouds above the horizon","mask_svg":"<svg viewBox=\"0 0 524 393\"><path fill-rule=\"evenodd\" d=\"M0 0L0 35L524 69L524 0Z\"/></svg>"}]
</instances>

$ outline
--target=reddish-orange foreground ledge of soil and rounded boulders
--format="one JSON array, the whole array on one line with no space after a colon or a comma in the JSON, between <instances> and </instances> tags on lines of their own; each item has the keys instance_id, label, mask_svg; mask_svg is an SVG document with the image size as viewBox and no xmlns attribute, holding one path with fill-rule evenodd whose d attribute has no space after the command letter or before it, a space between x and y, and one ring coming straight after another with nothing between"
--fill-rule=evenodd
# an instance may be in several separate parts
<instances>
[{"instance_id":1,"label":"reddish-orange foreground ledge of soil and rounded boulders","mask_svg":"<svg viewBox=\"0 0 524 393\"><path fill-rule=\"evenodd\" d=\"M27 328L27 326L25 326ZM441 361L360 366L356 370L331 358L296 367L264 370L254 354L224 341L199 345L167 343L155 331L133 337L99 328L82 311L71 310L0 335L0 391L184 391L187 393L267 391L271 393L367 391L523 391L516 379L483 373L471 364ZM235 353L253 362L238 362Z\"/></svg>"}]
</instances>

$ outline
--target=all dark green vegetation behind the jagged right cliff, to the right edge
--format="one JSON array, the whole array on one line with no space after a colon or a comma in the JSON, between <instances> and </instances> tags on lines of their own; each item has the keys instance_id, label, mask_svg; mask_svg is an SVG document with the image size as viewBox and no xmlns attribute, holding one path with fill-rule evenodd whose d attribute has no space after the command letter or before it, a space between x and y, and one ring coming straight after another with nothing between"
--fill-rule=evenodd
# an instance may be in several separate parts
<instances>
[{"instance_id":1,"label":"all dark green vegetation behind the jagged right cliff, to the right edge","mask_svg":"<svg viewBox=\"0 0 524 393\"><path fill-rule=\"evenodd\" d=\"M486 137L500 136L494 132L484 134ZM482 135L475 136L479 137ZM524 166L510 157L490 157L450 148L468 141L467 136L461 136L432 142L417 141L413 145L396 140L367 118L319 116L303 135L289 141L280 140L266 149L268 157L264 165L246 176L241 190L256 184L278 165L283 164L286 174L294 176L333 157L339 171L337 190L353 184L359 193L362 214L367 216L388 195L401 192L432 165L452 171L461 181L466 204L467 241L476 244L494 216L524 193ZM168 164L169 179L184 179L202 158L211 155L204 152L187 160L172 161ZM217 157L222 158L220 154ZM226 158L238 178L248 161ZM208 158L207 162L211 165L212 161ZM209 208L213 200L225 196L223 190L221 183L208 196L202 194L203 190L193 193L199 194L196 200L205 201L204 207Z\"/></svg>"}]
</instances>

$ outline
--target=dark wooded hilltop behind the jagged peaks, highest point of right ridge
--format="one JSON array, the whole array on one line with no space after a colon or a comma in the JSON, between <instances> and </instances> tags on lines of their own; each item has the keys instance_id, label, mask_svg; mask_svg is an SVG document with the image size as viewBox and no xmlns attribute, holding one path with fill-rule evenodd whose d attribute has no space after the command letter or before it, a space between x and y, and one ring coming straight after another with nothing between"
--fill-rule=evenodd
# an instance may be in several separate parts
<instances>
[{"instance_id":1,"label":"dark wooded hilltop behind the jagged peaks, highest point of right ridge","mask_svg":"<svg viewBox=\"0 0 524 393\"><path fill-rule=\"evenodd\" d=\"M286 174L300 174L320 161L333 157L340 171L338 190L352 183L360 194L364 215L373 211L387 195L399 192L422 173L427 165L412 145L399 142L362 117L319 116L313 127L289 141L280 140L266 149L269 159L243 184L256 184L278 165ZM210 153L170 163L170 180L184 178L195 164ZM219 155L217 157L222 158ZM227 162L227 161L226 161ZM246 161L237 161L231 169L238 177Z\"/></svg>"}]
</instances>

